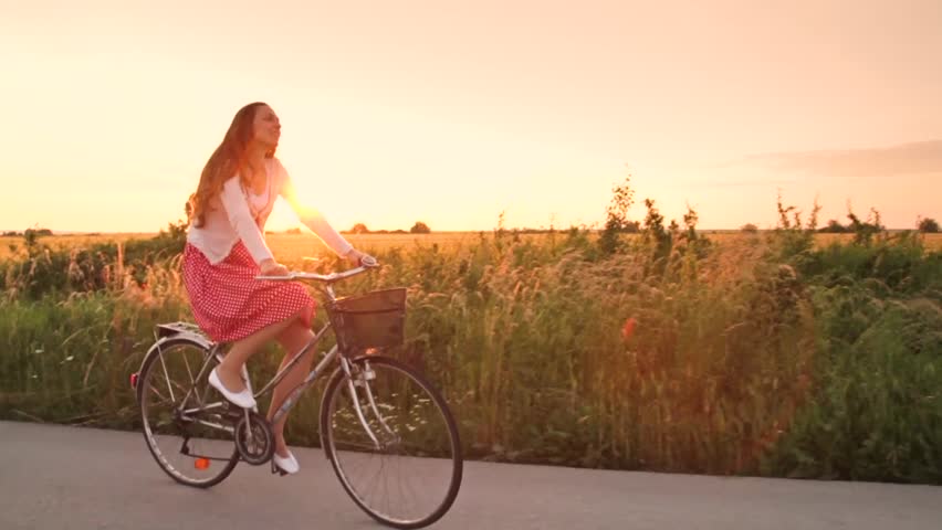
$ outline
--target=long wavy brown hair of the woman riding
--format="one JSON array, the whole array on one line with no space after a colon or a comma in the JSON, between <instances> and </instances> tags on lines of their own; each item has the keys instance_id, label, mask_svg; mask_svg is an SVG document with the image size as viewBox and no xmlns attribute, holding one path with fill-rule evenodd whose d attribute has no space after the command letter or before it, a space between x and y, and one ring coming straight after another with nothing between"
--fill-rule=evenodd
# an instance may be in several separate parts
<instances>
[{"instance_id":1,"label":"long wavy brown hair of the woman riding","mask_svg":"<svg viewBox=\"0 0 942 530\"><path fill-rule=\"evenodd\" d=\"M242 183L248 184L242 168L245 167L249 144L252 141L255 112L264 105L262 102L250 103L236 113L222 144L212 151L202 168L197 191L190 195L186 206L187 219L193 226L206 223L206 213L212 209L210 201L219 195L227 180L239 173ZM265 158L272 157L274 149L265 153Z\"/></svg>"}]
</instances>

